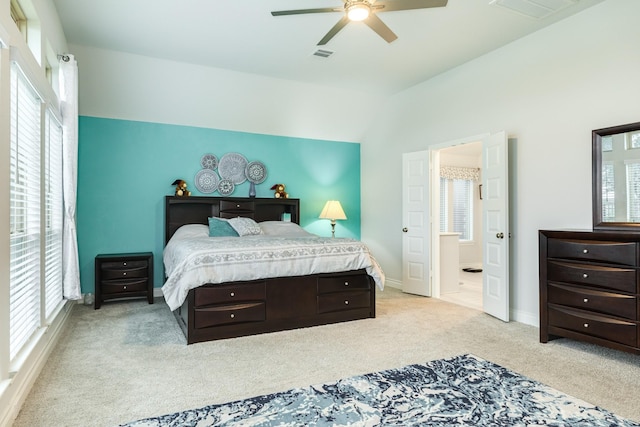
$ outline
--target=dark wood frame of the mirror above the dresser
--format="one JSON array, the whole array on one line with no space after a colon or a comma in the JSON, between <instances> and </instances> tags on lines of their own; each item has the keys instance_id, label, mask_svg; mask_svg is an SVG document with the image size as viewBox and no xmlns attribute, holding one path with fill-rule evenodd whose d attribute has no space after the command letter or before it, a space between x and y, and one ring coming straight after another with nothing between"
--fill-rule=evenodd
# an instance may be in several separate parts
<instances>
[{"instance_id":1,"label":"dark wood frame of the mirror above the dresser","mask_svg":"<svg viewBox=\"0 0 640 427\"><path fill-rule=\"evenodd\" d=\"M596 129L591 132L592 140L592 195L593 229L602 231L635 231L640 233L640 222L602 221L602 137L640 130L640 122Z\"/></svg>"}]
</instances>

